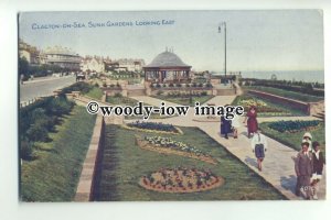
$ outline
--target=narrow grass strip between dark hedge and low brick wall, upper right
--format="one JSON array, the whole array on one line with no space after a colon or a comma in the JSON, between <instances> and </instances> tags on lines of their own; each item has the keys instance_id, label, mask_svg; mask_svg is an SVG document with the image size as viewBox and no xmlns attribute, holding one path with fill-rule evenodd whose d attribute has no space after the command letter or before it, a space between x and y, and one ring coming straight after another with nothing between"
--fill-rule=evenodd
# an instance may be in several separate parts
<instances>
[{"instance_id":1,"label":"narrow grass strip between dark hedge and low brick wall, upper right","mask_svg":"<svg viewBox=\"0 0 331 220\"><path fill-rule=\"evenodd\" d=\"M252 87L244 87L244 88L246 90L254 89L254 90L265 91L265 92L274 94L289 99L296 99L303 102L316 102L324 99L324 97L317 97L317 96L300 94L296 91L288 91L284 89L273 88L273 87L252 86Z\"/></svg>"}]
</instances>

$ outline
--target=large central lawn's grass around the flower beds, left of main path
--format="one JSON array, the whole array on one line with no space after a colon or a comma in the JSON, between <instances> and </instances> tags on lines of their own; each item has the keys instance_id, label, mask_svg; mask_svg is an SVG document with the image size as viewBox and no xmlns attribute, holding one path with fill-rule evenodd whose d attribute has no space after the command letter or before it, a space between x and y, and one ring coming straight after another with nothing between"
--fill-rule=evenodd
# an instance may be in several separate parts
<instances>
[{"instance_id":1,"label":"large central lawn's grass around the flower beds, left of main path","mask_svg":"<svg viewBox=\"0 0 331 220\"><path fill-rule=\"evenodd\" d=\"M106 127L106 144L103 152L100 182L96 200L134 201L134 200L241 200L241 199L285 199L273 186L266 183L244 163L228 153L207 134L195 128L181 128L184 135L169 136L183 141L196 148L209 152L220 164L212 165L178 155L164 155L138 147L135 134L150 135L145 132L124 130L117 125ZM162 194L147 190L138 185L141 176L161 167L210 168L222 176L222 187L192 194Z\"/></svg>"}]
</instances>

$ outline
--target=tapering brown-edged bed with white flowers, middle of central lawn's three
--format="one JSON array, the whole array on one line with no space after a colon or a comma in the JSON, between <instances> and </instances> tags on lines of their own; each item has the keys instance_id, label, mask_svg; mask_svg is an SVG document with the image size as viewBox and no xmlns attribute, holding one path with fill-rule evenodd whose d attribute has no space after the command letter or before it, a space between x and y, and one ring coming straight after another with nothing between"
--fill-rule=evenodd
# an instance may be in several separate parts
<instances>
[{"instance_id":1,"label":"tapering brown-edged bed with white flowers, middle of central lawn's three","mask_svg":"<svg viewBox=\"0 0 331 220\"><path fill-rule=\"evenodd\" d=\"M137 136L137 143L141 148L156 151L166 154L177 154L195 160L200 160L211 164L217 164L217 161L209 154L190 146L183 142L173 141L171 138L162 136L145 136L143 140Z\"/></svg>"}]
</instances>

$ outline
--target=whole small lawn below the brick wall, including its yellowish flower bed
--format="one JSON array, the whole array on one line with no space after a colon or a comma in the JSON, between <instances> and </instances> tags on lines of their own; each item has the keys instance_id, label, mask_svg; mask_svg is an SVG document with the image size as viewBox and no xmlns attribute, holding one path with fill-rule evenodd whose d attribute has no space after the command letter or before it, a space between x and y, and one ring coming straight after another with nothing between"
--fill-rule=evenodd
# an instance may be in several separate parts
<instances>
[{"instance_id":1,"label":"whole small lawn below the brick wall, including its yellowish flower bed","mask_svg":"<svg viewBox=\"0 0 331 220\"><path fill-rule=\"evenodd\" d=\"M257 107L258 117L292 117L305 116L300 110L271 102L253 95L244 94L237 96L232 102L232 106L243 106L245 111L248 111L250 106Z\"/></svg>"}]
</instances>

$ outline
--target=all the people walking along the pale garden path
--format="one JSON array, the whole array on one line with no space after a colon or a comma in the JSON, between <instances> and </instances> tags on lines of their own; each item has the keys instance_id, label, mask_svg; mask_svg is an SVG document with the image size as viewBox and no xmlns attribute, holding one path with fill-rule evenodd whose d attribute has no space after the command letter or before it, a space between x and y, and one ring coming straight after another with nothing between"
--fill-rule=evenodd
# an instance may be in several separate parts
<instances>
[{"instance_id":1,"label":"all the people walking along the pale garden path","mask_svg":"<svg viewBox=\"0 0 331 220\"><path fill-rule=\"evenodd\" d=\"M247 123L247 136L248 139L252 138L250 146L257 160L257 168L261 172L261 163L267 151L267 141L258 128L256 107L248 109L243 123ZM233 120L226 120L224 117L221 117L221 135L224 139L228 139L229 133L233 133L233 138L237 139L239 127L241 123L237 116ZM293 157L297 174L296 195L303 196L306 199L318 199L318 183L322 178L325 164L319 147L319 142L312 142L312 135L307 132L302 136L301 151L297 157Z\"/></svg>"}]
</instances>

